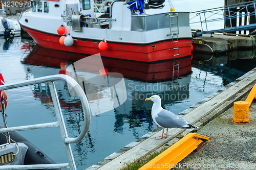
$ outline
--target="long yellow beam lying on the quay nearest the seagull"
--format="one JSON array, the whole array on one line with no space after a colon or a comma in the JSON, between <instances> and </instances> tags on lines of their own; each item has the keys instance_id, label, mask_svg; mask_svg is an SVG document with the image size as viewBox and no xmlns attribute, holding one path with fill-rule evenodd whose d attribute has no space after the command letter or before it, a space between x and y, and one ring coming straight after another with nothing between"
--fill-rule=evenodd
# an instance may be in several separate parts
<instances>
[{"instance_id":1,"label":"long yellow beam lying on the quay nearest the seagull","mask_svg":"<svg viewBox=\"0 0 256 170\"><path fill-rule=\"evenodd\" d=\"M172 147L168 148L156 158L139 168L139 170L167 170L174 167L175 164L197 149L197 146L202 142L200 139L209 140L210 138L196 133L187 134L181 140L173 144Z\"/></svg>"}]
</instances>

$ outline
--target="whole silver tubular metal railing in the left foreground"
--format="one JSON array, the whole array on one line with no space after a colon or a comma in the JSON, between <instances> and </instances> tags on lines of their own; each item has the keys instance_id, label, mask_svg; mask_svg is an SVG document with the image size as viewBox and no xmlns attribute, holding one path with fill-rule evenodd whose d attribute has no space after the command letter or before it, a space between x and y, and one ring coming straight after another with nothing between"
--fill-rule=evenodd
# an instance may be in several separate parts
<instances>
[{"instance_id":1,"label":"whole silver tubular metal railing in the left foreground","mask_svg":"<svg viewBox=\"0 0 256 170\"><path fill-rule=\"evenodd\" d=\"M71 87L73 87L74 91L80 97L80 101L81 101L83 112L84 112L84 123L83 123L83 128L80 135L76 138L68 137L68 133L66 130L65 122L62 116L62 112L61 112L61 108L58 100L57 91L54 85L54 81L57 81L57 80L65 80ZM80 85L73 78L69 76L55 75L55 76L46 76L46 77L36 78L36 79L27 80L27 81L18 82L18 83L1 85L0 90L30 86L33 84L46 83L46 82L48 82L50 87L50 92L51 92L51 97L52 97L53 105L56 112L57 122L3 128L3 129L0 129L0 133L59 127L69 162L57 163L57 164L3 165L3 166L0 166L0 169L51 169L51 168L70 168L72 170L76 169L70 143L77 143L81 141L87 135L90 128L90 122L91 122L90 106L87 100L87 96L82 90L82 88L80 87Z\"/></svg>"}]
</instances>

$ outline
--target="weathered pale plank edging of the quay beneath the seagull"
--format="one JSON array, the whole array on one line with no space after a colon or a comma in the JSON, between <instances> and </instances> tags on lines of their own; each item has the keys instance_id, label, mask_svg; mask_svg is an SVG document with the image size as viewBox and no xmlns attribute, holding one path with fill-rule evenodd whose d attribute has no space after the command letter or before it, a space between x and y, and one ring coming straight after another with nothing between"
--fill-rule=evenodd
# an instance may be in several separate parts
<instances>
[{"instance_id":1,"label":"weathered pale plank edging of the quay beneath the seagull","mask_svg":"<svg viewBox=\"0 0 256 170\"><path fill-rule=\"evenodd\" d=\"M232 107L233 102L243 98L255 83L256 68L181 112L179 116L188 120L188 122L194 126L204 126ZM170 129L167 138L155 140L155 137L162 134L161 128L157 128L154 131L145 134L138 140L127 144L124 148L111 154L97 164L90 166L87 170L120 169L127 163L143 158L161 148L163 145L170 145L173 142L178 141L179 135L185 135L187 133L188 131L182 129ZM207 133L204 135L208 136ZM230 134L228 131L225 131L224 135L228 136Z\"/></svg>"}]
</instances>

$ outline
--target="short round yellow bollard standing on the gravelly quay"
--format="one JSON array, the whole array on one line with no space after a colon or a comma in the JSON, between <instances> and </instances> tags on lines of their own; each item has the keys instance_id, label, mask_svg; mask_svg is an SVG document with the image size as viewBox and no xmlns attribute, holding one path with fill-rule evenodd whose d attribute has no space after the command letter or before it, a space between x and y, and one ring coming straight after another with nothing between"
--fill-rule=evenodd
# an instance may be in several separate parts
<instances>
[{"instance_id":1,"label":"short round yellow bollard standing on the gravelly quay","mask_svg":"<svg viewBox=\"0 0 256 170\"><path fill-rule=\"evenodd\" d=\"M234 123L249 122L249 103L244 101L234 102Z\"/></svg>"}]
</instances>

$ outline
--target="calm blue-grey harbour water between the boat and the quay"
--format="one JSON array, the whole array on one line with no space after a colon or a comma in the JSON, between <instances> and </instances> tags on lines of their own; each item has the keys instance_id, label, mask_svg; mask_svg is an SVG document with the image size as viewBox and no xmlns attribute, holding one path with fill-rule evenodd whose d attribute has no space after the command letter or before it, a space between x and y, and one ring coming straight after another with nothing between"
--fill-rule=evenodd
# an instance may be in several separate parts
<instances>
[{"instance_id":1,"label":"calm blue-grey harbour water between the boat and the quay","mask_svg":"<svg viewBox=\"0 0 256 170\"><path fill-rule=\"evenodd\" d=\"M77 59L86 57L49 50L21 37L12 42L1 40L0 45L0 68L6 84L63 74ZM180 61L179 78L177 79L175 72L175 80L172 80L173 62L143 64L103 58L103 65L109 72L119 72L123 75L127 100L121 106L106 112L102 112L102 106L113 105L111 101L100 98L99 105L90 102L92 109L102 113L91 117L87 137L77 144L72 144L77 168L85 169L99 162L156 128L151 118L152 103L145 102L146 97L159 94L162 106L178 114L256 66L255 56L247 59L230 56L198 59L198 55L200 54L194 54L192 61L190 58ZM96 85L91 87L96 91L101 88ZM81 104L69 93L67 84L63 81L56 82L56 88L69 136L75 137L81 131L83 122ZM56 121L48 84L7 90L7 95L9 127ZM55 162L67 162L59 129L24 131L19 134Z\"/></svg>"}]
</instances>

